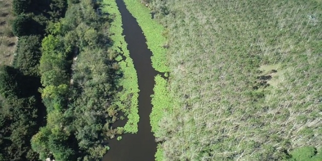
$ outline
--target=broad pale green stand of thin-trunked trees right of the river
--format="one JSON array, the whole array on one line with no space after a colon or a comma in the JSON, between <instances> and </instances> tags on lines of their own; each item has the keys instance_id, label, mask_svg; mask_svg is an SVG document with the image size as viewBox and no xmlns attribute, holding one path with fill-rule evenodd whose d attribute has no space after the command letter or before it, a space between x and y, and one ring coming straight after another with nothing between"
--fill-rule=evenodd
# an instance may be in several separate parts
<instances>
[{"instance_id":1,"label":"broad pale green stand of thin-trunked trees right of the river","mask_svg":"<svg viewBox=\"0 0 322 161\"><path fill-rule=\"evenodd\" d=\"M145 1L179 104L159 123L164 160L321 160L321 1Z\"/></svg>"}]
</instances>

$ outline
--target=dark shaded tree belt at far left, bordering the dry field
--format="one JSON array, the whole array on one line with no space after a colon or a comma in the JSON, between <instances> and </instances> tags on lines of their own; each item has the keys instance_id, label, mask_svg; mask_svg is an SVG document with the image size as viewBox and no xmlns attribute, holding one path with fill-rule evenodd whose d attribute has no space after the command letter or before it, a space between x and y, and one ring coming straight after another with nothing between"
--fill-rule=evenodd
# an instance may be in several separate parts
<instances>
[{"instance_id":1,"label":"dark shaded tree belt at far left, bordering the dry field","mask_svg":"<svg viewBox=\"0 0 322 161\"><path fill-rule=\"evenodd\" d=\"M0 67L0 161L38 161L30 140L43 125L40 42L49 22L64 15L64 0L13 0L13 34L19 37L13 66Z\"/></svg>"}]
</instances>

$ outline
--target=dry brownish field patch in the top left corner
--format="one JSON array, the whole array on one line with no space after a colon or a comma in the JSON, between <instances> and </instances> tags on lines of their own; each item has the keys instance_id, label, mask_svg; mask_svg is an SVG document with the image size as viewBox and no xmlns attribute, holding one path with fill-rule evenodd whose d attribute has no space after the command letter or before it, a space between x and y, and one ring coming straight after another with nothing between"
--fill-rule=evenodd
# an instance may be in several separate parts
<instances>
[{"instance_id":1,"label":"dry brownish field patch in the top left corner","mask_svg":"<svg viewBox=\"0 0 322 161\"><path fill-rule=\"evenodd\" d=\"M14 58L17 37L13 36L10 22L14 19L12 0L0 1L0 64L9 65Z\"/></svg>"}]
</instances>

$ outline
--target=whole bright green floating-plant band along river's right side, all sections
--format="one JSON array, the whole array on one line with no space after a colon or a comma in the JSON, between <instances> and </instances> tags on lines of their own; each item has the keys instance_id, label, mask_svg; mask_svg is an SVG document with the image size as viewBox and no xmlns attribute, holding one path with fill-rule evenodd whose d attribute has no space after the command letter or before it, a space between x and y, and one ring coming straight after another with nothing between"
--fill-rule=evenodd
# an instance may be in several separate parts
<instances>
[{"instance_id":1,"label":"whole bright green floating-plant band along river's right side, all sections","mask_svg":"<svg viewBox=\"0 0 322 161\"><path fill-rule=\"evenodd\" d=\"M152 51L151 57L152 66L159 72L169 72L167 63L167 50L165 45L167 43L165 37L165 28L159 22L152 19L151 10L145 7L139 0L124 0L126 8L130 11L133 17L138 21L143 34L146 38L146 44ZM168 74L165 73L165 76ZM150 123L152 132L155 137L162 137L159 123L161 118L167 116L172 112L171 99L168 96L167 80L158 75L155 77L155 87L153 88L154 95L152 98L152 112L150 114ZM165 123L165 122L163 122ZM157 153L155 155L157 161L162 161L162 149L158 145Z\"/></svg>"}]
</instances>

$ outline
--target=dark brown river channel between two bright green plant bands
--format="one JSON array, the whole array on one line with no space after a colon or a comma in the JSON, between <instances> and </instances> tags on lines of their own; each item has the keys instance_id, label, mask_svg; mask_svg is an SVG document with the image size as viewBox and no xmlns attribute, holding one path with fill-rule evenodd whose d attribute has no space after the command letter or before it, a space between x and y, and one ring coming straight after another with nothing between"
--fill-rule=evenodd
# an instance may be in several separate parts
<instances>
[{"instance_id":1,"label":"dark brown river channel between two bright green plant bands","mask_svg":"<svg viewBox=\"0 0 322 161\"><path fill-rule=\"evenodd\" d=\"M139 132L122 135L121 141L109 140L107 154L102 161L154 161L157 143L151 132L150 113L152 110L151 97L153 94L154 77L158 74L152 68L152 53L147 49L145 37L137 21L126 9L122 0L116 0L122 16L123 35L127 42L130 57L134 61L139 80ZM114 126L123 124L116 121Z\"/></svg>"}]
</instances>

